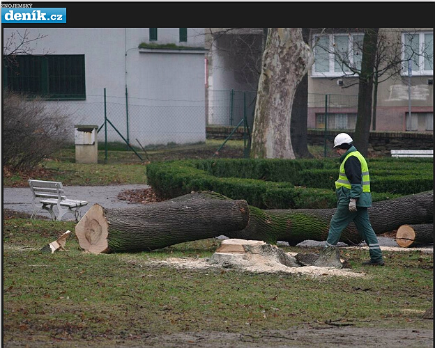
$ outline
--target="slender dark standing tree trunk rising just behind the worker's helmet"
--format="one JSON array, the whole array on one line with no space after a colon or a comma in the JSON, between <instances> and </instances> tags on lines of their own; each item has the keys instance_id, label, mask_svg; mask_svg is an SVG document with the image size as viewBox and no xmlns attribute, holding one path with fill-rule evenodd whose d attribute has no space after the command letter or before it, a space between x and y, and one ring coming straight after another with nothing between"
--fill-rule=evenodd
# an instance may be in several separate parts
<instances>
[{"instance_id":1,"label":"slender dark standing tree trunk rising just behind the worker's helmet","mask_svg":"<svg viewBox=\"0 0 435 348\"><path fill-rule=\"evenodd\" d=\"M373 73L378 31L379 28L365 28L364 30L363 60L358 86L358 115L353 136L353 144L364 157L367 157L370 122L372 122Z\"/></svg>"}]
</instances>

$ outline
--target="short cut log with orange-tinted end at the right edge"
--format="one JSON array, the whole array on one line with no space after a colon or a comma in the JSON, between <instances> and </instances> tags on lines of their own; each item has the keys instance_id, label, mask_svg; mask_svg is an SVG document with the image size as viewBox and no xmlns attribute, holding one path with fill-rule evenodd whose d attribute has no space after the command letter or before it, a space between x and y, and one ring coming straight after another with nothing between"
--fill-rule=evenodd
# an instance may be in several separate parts
<instances>
[{"instance_id":1,"label":"short cut log with orange-tinted end at the right edge","mask_svg":"<svg viewBox=\"0 0 435 348\"><path fill-rule=\"evenodd\" d=\"M402 248L434 243L434 224L402 225L397 229L396 242Z\"/></svg>"}]
</instances>

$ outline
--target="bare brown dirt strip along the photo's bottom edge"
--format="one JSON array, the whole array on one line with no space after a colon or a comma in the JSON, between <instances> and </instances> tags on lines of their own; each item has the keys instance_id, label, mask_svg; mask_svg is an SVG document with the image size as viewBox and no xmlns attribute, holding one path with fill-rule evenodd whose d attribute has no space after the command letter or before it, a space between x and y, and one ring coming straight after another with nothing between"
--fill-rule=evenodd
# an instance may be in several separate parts
<instances>
[{"instance_id":1,"label":"bare brown dirt strip along the photo's bottom edge","mask_svg":"<svg viewBox=\"0 0 435 348\"><path fill-rule=\"evenodd\" d=\"M65 338L52 342L38 340L37 336L21 340L3 340L4 348L12 347L106 347L106 348L273 348L273 347L352 347L352 348L425 348L433 347L433 330L377 329L376 323L355 327L352 323L331 322L307 325L289 330L252 333L200 331L168 333L165 335L135 335L96 341L86 340L83 345Z\"/></svg>"}]
</instances>

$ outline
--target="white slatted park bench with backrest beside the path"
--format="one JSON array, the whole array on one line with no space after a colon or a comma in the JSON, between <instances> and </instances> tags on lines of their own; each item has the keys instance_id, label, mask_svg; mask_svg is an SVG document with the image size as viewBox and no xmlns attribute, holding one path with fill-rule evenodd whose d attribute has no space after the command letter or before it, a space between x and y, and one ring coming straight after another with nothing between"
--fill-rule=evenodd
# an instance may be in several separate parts
<instances>
[{"instance_id":1,"label":"white slatted park bench with backrest beside the path","mask_svg":"<svg viewBox=\"0 0 435 348\"><path fill-rule=\"evenodd\" d=\"M86 200L72 200L65 196L63 185L60 181L28 180L33 194L33 213L30 219L36 219L36 214L41 210L47 210L52 220L61 221L66 213L74 214L75 221L79 221L80 208L87 205ZM54 214L53 207L56 206L59 214Z\"/></svg>"}]
</instances>

